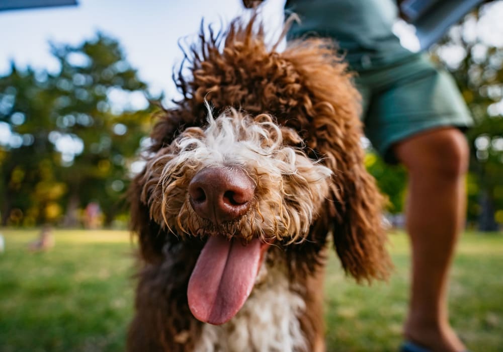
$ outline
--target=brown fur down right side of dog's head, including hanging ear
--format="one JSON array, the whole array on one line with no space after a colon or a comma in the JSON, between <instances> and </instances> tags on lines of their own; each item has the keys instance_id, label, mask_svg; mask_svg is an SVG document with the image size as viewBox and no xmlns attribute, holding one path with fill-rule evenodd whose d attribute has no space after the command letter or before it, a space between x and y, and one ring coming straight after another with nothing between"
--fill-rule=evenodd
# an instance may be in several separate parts
<instances>
[{"instance_id":1,"label":"brown fur down right side of dog's head, including hanging ear","mask_svg":"<svg viewBox=\"0 0 503 352\"><path fill-rule=\"evenodd\" d=\"M331 224L344 270L358 281L384 279L391 268L382 218L384 198L364 165L360 96L352 75L330 46L321 39L306 39L291 43L282 54L295 66L297 83L303 87L301 105L290 113L306 130L311 156L333 171L320 221L328 218Z\"/></svg>"}]
</instances>

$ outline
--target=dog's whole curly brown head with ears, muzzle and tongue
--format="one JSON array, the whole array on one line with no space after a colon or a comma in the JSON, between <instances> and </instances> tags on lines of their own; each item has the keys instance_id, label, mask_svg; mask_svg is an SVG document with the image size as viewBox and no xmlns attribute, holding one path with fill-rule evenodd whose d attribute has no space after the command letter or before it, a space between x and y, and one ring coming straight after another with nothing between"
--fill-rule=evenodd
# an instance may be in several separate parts
<instances>
[{"instance_id":1,"label":"dog's whole curly brown head with ears, muzzle and tongue","mask_svg":"<svg viewBox=\"0 0 503 352\"><path fill-rule=\"evenodd\" d=\"M178 75L184 99L162 112L130 193L147 261L163 260L166 244L205 241L188 302L210 323L241 307L270 245L313 270L332 232L358 280L389 269L351 75L329 43L311 39L279 53L254 26L255 16L224 35L201 34L180 71L191 74Z\"/></svg>"}]
</instances>

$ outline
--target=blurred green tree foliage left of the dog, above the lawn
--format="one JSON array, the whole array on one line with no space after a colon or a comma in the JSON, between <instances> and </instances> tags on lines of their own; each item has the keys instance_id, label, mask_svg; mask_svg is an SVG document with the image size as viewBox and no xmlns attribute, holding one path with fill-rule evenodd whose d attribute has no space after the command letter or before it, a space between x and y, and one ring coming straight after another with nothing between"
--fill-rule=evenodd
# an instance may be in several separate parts
<instances>
[{"instance_id":1,"label":"blurred green tree foliage left of the dog, above the lawn","mask_svg":"<svg viewBox=\"0 0 503 352\"><path fill-rule=\"evenodd\" d=\"M55 74L13 63L0 77L2 223L76 225L93 201L110 223L150 121L147 86L105 35L51 52Z\"/></svg>"}]
</instances>

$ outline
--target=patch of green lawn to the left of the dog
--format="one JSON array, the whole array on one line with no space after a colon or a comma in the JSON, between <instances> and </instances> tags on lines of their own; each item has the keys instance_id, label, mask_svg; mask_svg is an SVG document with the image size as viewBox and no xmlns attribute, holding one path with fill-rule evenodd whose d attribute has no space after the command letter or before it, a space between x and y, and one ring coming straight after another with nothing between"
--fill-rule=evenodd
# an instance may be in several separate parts
<instances>
[{"instance_id":1,"label":"patch of green lawn to the left of the dog","mask_svg":"<svg viewBox=\"0 0 503 352\"><path fill-rule=\"evenodd\" d=\"M37 231L3 231L0 351L120 351L132 314L126 232L65 231L30 253Z\"/></svg>"}]
</instances>

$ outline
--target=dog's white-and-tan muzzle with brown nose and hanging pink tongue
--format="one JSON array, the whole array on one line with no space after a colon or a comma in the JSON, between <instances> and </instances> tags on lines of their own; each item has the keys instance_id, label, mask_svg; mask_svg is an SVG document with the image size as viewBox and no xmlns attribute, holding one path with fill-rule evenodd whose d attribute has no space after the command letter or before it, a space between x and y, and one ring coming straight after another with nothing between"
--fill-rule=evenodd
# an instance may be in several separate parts
<instances>
[{"instance_id":1,"label":"dog's white-and-tan muzzle with brown nose and hanging pink tongue","mask_svg":"<svg viewBox=\"0 0 503 352\"><path fill-rule=\"evenodd\" d=\"M239 310L271 244L308 234L328 195L331 171L299 136L269 115L233 109L188 128L146 166L142 201L151 218L207 242L189 282L193 314L213 324Z\"/></svg>"}]
</instances>

